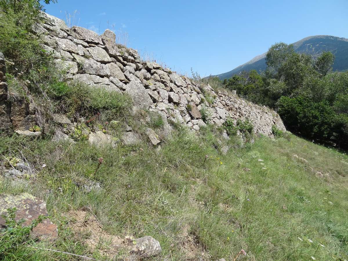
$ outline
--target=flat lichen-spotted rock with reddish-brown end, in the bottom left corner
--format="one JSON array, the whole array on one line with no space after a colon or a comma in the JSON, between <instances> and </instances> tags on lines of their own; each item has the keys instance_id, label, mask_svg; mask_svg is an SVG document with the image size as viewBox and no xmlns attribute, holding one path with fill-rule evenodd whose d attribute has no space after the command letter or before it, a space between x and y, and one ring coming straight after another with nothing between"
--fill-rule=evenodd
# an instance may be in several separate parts
<instances>
[{"instance_id":1,"label":"flat lichen-spotted rock with reddish-brown end, in the bottom left corner","mask_svg":"<svg viewBox=\"0 0 348 261\"><path fill-rule=\"evenodd\" d=\"M24 219L23 226L29 226L31 222L37 219L40 215L48 216L46 210L46 203L41 199L30 195L29 193L22 193L16 196L0 196L0 214L6 215L8 208L16 208L16 218L18 222ZM0 216L0 229L5 228L5 219ZM49 240L53 242L58 237L58 229L48 218L42 220L30 232L32 238L39 238L40 240Z\"/></svg>"}]
</instances>

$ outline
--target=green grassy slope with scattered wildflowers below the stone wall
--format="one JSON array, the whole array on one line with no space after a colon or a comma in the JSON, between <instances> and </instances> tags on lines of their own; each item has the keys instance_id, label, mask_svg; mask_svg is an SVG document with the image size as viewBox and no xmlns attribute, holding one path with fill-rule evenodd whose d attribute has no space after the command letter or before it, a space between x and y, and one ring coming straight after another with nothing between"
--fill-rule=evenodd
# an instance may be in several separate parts
<instances>
[{"instance_id":1,"label":"green grassy slope with scattered wildflowers below the stone wall","mask_svg":"<svg viewBox=\"0 0 348 261\"><path fill-rule=\"evenodd\" d=\"M22 151L33 167L47 167L28 188L0 181L0 193L46 198L60 234L48 247L98 259L72 237L66 217L71 208L88 206L111 234L155 237L163 248L158 260L185 260L187 250L196 260L202 253L209 260L233 260L242 248L248 255L240 260L347 259L346 155L291 135L290 141L261 137L223 156L209 130L200 138L182 130L174 136L160 150L5 139L1 153ZM94 176L99 157L104 163ZM79 184L87 179L103 189L83 192Z\"/></svg>"}]
</instances>

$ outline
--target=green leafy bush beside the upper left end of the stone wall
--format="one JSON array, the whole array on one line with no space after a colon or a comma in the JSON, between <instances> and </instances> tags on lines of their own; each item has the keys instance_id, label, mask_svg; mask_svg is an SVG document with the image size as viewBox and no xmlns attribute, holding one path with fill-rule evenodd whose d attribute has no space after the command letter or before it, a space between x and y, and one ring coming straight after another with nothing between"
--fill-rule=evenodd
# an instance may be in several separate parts
<instances>
[{"instance_id":1,"label":"green leafy bush beside the upper left end of the stone wall","mask_svg":"<svg viewBox=\"0 0 348 261\"><path fill-rule=\"evenodd\" d=\"M45 3L55 2L45 0ZM42 15L43 6L39 0L1 0L0 52L8 60L10 73L27 72L47 63L47 55L30 32Z\"/></svg>"}]
</instances>

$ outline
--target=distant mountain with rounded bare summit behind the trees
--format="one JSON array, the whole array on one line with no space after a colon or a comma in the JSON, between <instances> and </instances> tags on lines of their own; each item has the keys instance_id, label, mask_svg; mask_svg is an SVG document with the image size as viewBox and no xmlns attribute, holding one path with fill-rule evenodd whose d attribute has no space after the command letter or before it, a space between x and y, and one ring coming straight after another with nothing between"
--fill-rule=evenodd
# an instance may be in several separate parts
<instances>
[{"instance_id":1,"label":"distant mountain with rounded bare summit behind the trees","mask_svg":"<svg viewBox=\"0 0 348 261\"><path fill-rule=\"evenodd\" d=\"M348 39L346 38L340 38L331 35L315 35L294 42L293 46L294 50L298 53L306 53L314 56L320 55L323 51L330 51L336 57L335 62L332 66L333 71L348 70ZM238 74L242 71L264 71L267 67L265 61L266 53L254 57L249 62L239 65L232 71L215 76L223 80L228 79L234 74Z\"/></svg>"}]
</instances>

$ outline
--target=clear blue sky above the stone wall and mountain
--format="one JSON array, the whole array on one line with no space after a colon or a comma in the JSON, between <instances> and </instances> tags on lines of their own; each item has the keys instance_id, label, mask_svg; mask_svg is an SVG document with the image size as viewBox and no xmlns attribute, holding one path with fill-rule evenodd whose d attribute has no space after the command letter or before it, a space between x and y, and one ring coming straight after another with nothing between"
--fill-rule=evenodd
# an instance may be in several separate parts
<instances>
[{"instance_id":1,"label":"clear blue sky above the stone wall and mountain","mask_svg":"<svg viewBox=\"0 0 348 261\"><path fill-rule=\"evenodd\" d=\"M329 34L348 38L348 0L58 0L47 13L103 33L145 57L201 76L230 71L275 42ZM72 18L71 22L72 24Z\"/></svg>"}]
</instances>

